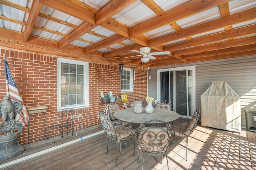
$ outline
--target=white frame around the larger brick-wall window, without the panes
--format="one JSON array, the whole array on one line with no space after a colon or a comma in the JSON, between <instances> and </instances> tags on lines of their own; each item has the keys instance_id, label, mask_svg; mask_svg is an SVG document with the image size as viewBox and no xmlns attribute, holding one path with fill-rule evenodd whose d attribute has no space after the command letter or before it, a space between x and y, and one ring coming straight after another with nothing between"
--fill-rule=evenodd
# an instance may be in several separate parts
<instances>
[{"instance_id":1,"label":"white frame around the larger brick-wall window, without the panes","mask_svg":"<svg viewBox=\"0 0 256 170\"><path fill-rule=\"evenodd\" d=\"M77 105L69 105L69 106L61 106L61 63L68 63L68 64L77 64L84 66L84 103L77 104ZM88 62L83 61L76 61L70 59L57 59L57 110L62 110L65 108L85 108L89 107L89 64Z\"/></svg>"}]
</instances>

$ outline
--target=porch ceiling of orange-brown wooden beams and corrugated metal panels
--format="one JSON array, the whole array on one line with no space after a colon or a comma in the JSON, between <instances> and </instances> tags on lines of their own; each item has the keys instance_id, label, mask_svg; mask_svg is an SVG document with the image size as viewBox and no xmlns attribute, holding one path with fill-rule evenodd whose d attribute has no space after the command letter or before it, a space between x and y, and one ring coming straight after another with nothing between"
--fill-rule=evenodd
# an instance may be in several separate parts
<instances>
[{"instance_id":1,"label":"porch ceiling of orange-brown wooden beams and corrugated metal panels","mask_svg":"<svg viewBox=\"0 0 256 170\"><path fill-rule=\"evenodd\" d=\"M256 55L256 0L0 0L0 14L0 46L88 62L141 68L141 47L170 51L150 68Z\"/></svg>"}]
</instances>

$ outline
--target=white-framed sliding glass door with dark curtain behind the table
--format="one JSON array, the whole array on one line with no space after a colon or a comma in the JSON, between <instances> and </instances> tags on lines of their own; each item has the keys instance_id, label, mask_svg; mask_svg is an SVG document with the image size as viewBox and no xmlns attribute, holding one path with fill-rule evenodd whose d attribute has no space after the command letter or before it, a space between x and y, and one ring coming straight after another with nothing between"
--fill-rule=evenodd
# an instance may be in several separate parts
<instances>
[{"instance_id":1,"label":"white-framed sliding glass door with dark curtain behind the table","mask_svg":"<svg viewBox=\"0 0 256 170\"><path fill-rule=\"evenodd\" d=\"M158 70L158 98L172 102L181 117L190 117L195 109L194 66ZM193 93L194 92L194 93Z\"/></svg>"}]
</instances>

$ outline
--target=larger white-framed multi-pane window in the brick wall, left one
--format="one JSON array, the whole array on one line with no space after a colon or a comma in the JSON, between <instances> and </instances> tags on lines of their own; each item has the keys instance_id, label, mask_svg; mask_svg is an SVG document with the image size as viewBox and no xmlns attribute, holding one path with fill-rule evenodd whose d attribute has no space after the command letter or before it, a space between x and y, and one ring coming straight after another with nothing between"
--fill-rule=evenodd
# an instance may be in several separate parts
<instances>
[{"instance_id":1,"label":"larger white-framed multi-pane window in the brick wall, left one","mask_svg":"<svg viewBox=\"0 0 256 170\"><path fill-rule=\"evenodd\" d=\"M87 107L88 63L68 59L57 60L57 108Z\"/></svg>"}]
</instances>

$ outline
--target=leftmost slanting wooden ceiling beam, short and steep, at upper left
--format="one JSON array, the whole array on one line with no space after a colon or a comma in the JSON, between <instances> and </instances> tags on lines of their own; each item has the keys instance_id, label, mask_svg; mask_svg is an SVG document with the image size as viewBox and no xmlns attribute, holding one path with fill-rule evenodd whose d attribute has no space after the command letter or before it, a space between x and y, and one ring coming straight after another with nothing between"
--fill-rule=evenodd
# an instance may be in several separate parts
<instances>
[{"instance_id":1,"label":"leftmost slanting wooden ceiling beam, short and steep, at upper left","mask_svg":"<svg viewBox=\"0 0 256 170\"><path fill-rule=\"evenodd\" d=\"M34 3L31 8L31 12L28 17L28 22L24 30L23 41L26 42L28 37L34 27L38 14L44 4L44 0L34 0Z\"/></svg>"}]
</instances>

